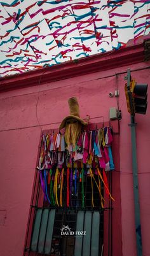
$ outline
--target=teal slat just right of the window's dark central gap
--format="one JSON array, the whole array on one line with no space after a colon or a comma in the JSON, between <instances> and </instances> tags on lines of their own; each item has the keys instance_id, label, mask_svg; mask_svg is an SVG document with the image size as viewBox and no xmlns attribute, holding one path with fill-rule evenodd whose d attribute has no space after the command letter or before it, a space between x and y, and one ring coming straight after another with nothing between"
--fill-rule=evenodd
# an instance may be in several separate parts
<instances>
[{"instance_id":1,"label":"teal slat just right of the window's dark central gap","mask_svg":"<svg viewBox=\"0 0 150 256\"><path fill-rule=\"evenodd\" d=\"M84 211L78 211L76 231L83 231ZM74 256L81 256L83 236L76 236Z\"/></svg>"}]
</instances>

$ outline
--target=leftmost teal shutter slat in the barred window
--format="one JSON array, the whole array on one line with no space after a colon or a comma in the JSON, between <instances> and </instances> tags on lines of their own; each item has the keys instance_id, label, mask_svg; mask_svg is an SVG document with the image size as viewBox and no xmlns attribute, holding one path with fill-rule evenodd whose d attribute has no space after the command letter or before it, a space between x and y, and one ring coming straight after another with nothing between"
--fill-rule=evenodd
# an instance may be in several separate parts
<instances>
[{"instance_id":1,"label":"leftmost teal shutter slat in the barred window","mask_svg":"<svg viewBox=\"0 0 150 256\"><path fill-rule=\"evenodd\" d=\"M37 247L37 243L38 243L41 215L42 215L42 210L38 209L36 211L36 219L35 219L35 223L34 223L34 230L33 230L33 234L32 234L32 242L31 242L31 250L33 252L36 252L36 247Z\"/></svg>"}]
</instances>

